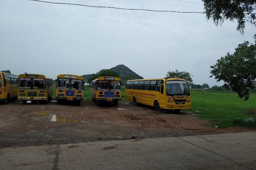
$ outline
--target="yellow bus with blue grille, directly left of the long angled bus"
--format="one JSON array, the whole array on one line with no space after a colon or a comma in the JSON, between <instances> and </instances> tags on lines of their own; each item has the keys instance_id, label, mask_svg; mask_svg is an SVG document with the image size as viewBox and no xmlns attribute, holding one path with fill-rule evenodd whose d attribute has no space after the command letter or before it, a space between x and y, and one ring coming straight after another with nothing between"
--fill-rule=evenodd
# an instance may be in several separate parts
<instances>
[{"instance_id":1,"label":"yellow bus with blue grille, directly left of the long angled bus","mask_svg":"<svg viewBox=\"0 0 256 170\"><path fill-rule=\"evenodd\" d=\"M100 102L118 105L121 100L121 79L118 77L99 77L91 82L91 98L98 106Z\"/></svg>"}]
</instances>

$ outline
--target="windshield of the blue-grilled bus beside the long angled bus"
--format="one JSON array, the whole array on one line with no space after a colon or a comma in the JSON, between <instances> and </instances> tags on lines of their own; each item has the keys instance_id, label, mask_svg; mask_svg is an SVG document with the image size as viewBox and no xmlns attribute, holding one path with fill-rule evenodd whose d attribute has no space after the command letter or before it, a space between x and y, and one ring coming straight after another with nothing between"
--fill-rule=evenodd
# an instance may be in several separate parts
<instances>
[{"instance_id":1,"label":"windshield of the blue-grilled bus beside the long angled bus","mask_svg":"<svg viewBox=\"0 0 256 170\"><path fill-rule=\"evenodd\" d=\"M120 81L102 80L97 83L97 90L121 90Z\"/></svg>"}]
</instances>

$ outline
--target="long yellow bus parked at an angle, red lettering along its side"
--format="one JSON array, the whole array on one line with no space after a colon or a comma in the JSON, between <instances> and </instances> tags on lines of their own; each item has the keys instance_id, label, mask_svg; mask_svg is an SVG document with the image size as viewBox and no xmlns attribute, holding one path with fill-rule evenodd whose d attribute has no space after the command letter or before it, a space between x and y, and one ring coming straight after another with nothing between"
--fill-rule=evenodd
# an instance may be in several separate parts
<instances>
[{"instance_id":1,"label":"long yellow bus parked at an angle, red lettering along its side","mask_svg":"<svg viewBox=\"0 0 256 170\"><path fill-rule=\"evenodd\" d=\"M190 108L190 88L185 79L161 78L128 80L125 87L125 97L133 102L154 106L157 112L162 109Z\"/></svg>"}]
</instances>

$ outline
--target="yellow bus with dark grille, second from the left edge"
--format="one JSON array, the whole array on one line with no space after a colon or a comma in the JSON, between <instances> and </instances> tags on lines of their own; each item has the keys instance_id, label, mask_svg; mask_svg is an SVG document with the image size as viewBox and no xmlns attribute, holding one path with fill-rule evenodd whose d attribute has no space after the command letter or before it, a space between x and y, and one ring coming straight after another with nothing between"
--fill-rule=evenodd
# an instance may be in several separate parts
<instances>
[{"instance_id":1,"label":"yellow bus with dark grille, second from the left edge","mask_svg":"<svg viewBox=\"0 0 256 170\"><path fill-rule=\"evenodd\" d=\"M19 74L18 99L23 104L27 101L47 103L52 98L53 79L41 74Z\"/></svg>"}]
</instances>

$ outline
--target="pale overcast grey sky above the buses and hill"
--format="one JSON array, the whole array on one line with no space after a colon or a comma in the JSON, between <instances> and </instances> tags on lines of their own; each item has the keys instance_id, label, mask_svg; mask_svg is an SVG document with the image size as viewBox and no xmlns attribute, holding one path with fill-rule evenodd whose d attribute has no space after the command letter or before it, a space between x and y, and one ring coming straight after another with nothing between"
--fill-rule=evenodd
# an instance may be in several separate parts
<instances>
[{"instance_id":1,"label":"pale overcast grey sky above the buses and hill","mask_svg":"<svg viewBox=\"0 0 256 170\"><path fill-rule=\"evenodd\" d=\"M204 12L200 0L45 0L90 6ZM199 4L196 4L199 3ZM144 79L186 71L193 83L221 86L209 76L217 60L238 44L254 43L255 27L216 27L205 14L121 10L1 0L0 71L84 75L124 64Z\"/></svg>"}]
</instances>

